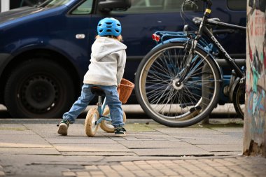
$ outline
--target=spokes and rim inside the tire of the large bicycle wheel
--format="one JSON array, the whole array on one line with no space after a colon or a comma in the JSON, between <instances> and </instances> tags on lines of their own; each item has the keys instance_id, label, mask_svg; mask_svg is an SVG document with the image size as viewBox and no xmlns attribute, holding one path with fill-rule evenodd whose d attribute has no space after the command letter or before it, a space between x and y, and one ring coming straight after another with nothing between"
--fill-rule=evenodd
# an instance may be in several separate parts
<instances>
[{"instance_id":1,"label":"spokes and rim inside the tire of the large bicycle wheel","mask_svg":"<svg viewBox=\"0 0 266 177\"><path fill-rule=\"evenodd\" d=\"M187 66L184 55L183 48L167 48L158 52L144 69L142 92L150 109L163 118L193 118L204 111L214 97L217 80L206 57L200 53L193 55L184 73Z\"/></svg>"}]
</instances>

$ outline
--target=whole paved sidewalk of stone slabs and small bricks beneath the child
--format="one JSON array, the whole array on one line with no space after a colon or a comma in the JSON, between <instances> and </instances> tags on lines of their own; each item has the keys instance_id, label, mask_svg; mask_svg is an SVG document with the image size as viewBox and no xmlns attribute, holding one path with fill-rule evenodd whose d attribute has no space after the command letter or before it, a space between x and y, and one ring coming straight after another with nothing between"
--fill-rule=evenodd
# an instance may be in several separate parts
<instances>
[{"instance_id":1,"label":"whole paved sidewalk of stone slabs and small bricks beneath the child","mask_svg":"<svg viewBox=\"0 0 266 177\"><path fill-rule=\"evenodd\" d=\"M226 122L227 121L227 122ZM241 155L243 122L170 128L127 120L127 136L83 119L57 134L57 120L0 119L0 176L265 176L266 159Z\"/></svg>"}]
</instances>

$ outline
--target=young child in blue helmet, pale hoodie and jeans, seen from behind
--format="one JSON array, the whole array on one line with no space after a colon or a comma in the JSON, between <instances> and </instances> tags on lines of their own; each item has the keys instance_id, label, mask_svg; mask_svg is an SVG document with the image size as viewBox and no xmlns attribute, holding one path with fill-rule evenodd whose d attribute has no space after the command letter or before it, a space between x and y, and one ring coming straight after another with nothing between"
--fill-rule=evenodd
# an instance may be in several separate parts
<instances>
[{"instance_id":1,"label":"young child in blue helmet, pale hoodie and jeans, seen from behind","mask_svg":"<svg viewBox=\"0 0 266 177\"><path fill-rule=\"evenodd\" d=\"M57 133L67 135L69 124L73 124L90 101L94 98L90 88L100 87L106 95L106 104L111 114L111 124L115 127L115 136L125 136L126 130L123 122L122 103L118 97L117 87L122 80L125 61L126 45L121 43L121 24L115 18L104 18L97 26L98 36L92 44L92 53L89 70L84 76L81 95L64 113L63 120L59 124Z\"/></svg>"}]
</instances>

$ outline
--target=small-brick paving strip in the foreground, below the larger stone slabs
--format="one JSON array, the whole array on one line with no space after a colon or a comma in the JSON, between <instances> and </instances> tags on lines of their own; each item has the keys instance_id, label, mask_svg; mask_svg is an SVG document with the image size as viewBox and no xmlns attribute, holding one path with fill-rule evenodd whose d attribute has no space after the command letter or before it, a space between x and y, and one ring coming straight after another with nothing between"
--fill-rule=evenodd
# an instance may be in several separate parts
<instances>
[{"instance_id":1,"label":"small-brick paving strip in the foreground, below the larger stone slabs","mask_svg":"<svg viewBox=\"0 0 266 177\"><path fill-rule=\"evenodd\" d=\"M85 165L63 176L265 176L263 157L201 157L190 160L141 160Z\"/></svg>"}]
</instances>

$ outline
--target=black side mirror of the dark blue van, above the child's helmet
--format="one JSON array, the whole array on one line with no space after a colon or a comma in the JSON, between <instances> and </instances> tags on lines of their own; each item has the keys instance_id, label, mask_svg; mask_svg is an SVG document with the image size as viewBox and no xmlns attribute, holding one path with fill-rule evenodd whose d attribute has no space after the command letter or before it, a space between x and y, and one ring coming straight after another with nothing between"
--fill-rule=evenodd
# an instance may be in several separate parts
<instances>
[{"instance_id":1,"label":"black side mirror of the dark blue van, above the child's helmet","mask_svg":"<svg viewBox=\"0 0 266 177\"><path fill-rule=\"evenodd\" d=\"M107 12L111 10L127 10L130 6L131 0L104 0L98 3L98 9Z\"/></svg>"}]
</instances>

